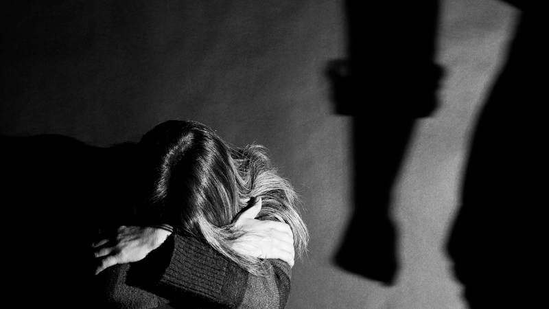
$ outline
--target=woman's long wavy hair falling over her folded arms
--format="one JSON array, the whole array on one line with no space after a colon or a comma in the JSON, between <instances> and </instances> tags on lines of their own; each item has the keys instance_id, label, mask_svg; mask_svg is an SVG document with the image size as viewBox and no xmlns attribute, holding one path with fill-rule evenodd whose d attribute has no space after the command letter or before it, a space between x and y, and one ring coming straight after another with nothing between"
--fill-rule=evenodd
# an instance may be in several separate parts
<instances>
[{"instance_id":1,"label":"woman's long wavy hair falling over her folded arms","mask_svg":"<svg viewBox=\"0 0 549 309\"><path fill-rule=\"evenodd\" d=\"M259 145L238 148L198 122L170 120L155 126L138 144L149 183L138 218L149 225L205 240L248 272L261 275L265 262L232 249L244 231L231 228L253 196L261 196L258 217L290 225L296 255L305 252L308 232L296 192Z\"/></svg>"}]
</instances>

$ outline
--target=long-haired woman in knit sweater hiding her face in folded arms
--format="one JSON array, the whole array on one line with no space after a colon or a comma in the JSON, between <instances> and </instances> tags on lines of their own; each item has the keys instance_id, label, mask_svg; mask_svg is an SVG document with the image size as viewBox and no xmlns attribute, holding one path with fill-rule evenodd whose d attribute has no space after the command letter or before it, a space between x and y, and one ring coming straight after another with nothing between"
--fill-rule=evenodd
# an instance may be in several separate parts
<instances>
[{"instance_id":1,"label":"long-haired woman in knit sweater hiding her face in folded arms","mask_svg":"<svg viewBox=\"0 0 549 309\"><path fill-rule=\"evenodd\" d=\"M130 225L94 244L102 306L283 308L308 233L266 150L172 120L145 134L137 152Z\"/></svg>"}]
</instances>

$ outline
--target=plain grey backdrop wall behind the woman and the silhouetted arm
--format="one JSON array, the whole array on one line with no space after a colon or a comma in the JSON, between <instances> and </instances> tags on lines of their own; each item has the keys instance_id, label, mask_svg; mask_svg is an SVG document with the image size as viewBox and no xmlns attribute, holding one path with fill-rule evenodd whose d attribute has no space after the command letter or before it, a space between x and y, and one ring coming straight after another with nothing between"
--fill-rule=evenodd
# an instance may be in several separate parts
<instances>
[{"instance_id":1,"label":"plain grey backdrop wall behind the woman and the silhouetted arm","mask_svg":"<svg viewBox=\"0 0 549 309\"><path fill-rule=\"evenodd\" d=\"M0 133L110 146L167 119L194 119L232 144L264 144L301 194L311 233L288 308L465 308L445 242L471 130L518 12L491 0L439 2L445 76L439 107L414 122L391 190L398 268L389 285L336 262L357 190L353 120L336 113L326 75L349 56L344 1L3 4ZM377 13L364 8L364 18ZM382 151L374 140L364 146ZM358 190L369 201L371 188ZM356 247L376 254L367 241Z\"/></svg>"}]
</instances>

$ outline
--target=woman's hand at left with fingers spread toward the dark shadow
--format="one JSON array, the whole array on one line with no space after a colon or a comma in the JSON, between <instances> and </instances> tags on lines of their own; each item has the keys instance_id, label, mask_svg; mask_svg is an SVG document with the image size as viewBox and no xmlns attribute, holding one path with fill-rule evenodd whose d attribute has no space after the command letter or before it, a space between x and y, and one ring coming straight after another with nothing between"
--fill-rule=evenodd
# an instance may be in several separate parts
<instances>
[{"instance_id":1,"label":"woman's hand at left with fingers spread toward the dark shadow","mask_svg":"<svg viewBox=\"0 0 549 309\"><path fill-rule=\"evenodd\" d=\"M101 240L93 244L97 268L95 275L115 264L143 260L160 247L172 232L156 227L119 227L114 240Z\"/></svg>"}]
</instances>

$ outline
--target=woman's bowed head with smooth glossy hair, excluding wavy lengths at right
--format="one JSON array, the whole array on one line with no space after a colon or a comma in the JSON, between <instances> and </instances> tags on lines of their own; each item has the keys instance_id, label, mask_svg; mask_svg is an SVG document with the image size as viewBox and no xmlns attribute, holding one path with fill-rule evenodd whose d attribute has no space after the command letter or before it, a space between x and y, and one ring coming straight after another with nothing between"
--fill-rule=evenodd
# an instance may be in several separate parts
<instances>
[{"instance_id":1,"label":"woman's bowed head with smooth glossy hair, excluding wavy lengths at right","mask_svg":"<svg viewBox=\"0 0 549 309\"><path fill-rule=\"evenodd\" d=\"M235 169L228 146L198 122L171 120L139 142L152 162L150 207L164 223L194 233L199 221L220 227L237 211ZM224 207L221 207L221 206Z\"/></svg>"}]
</instances>

